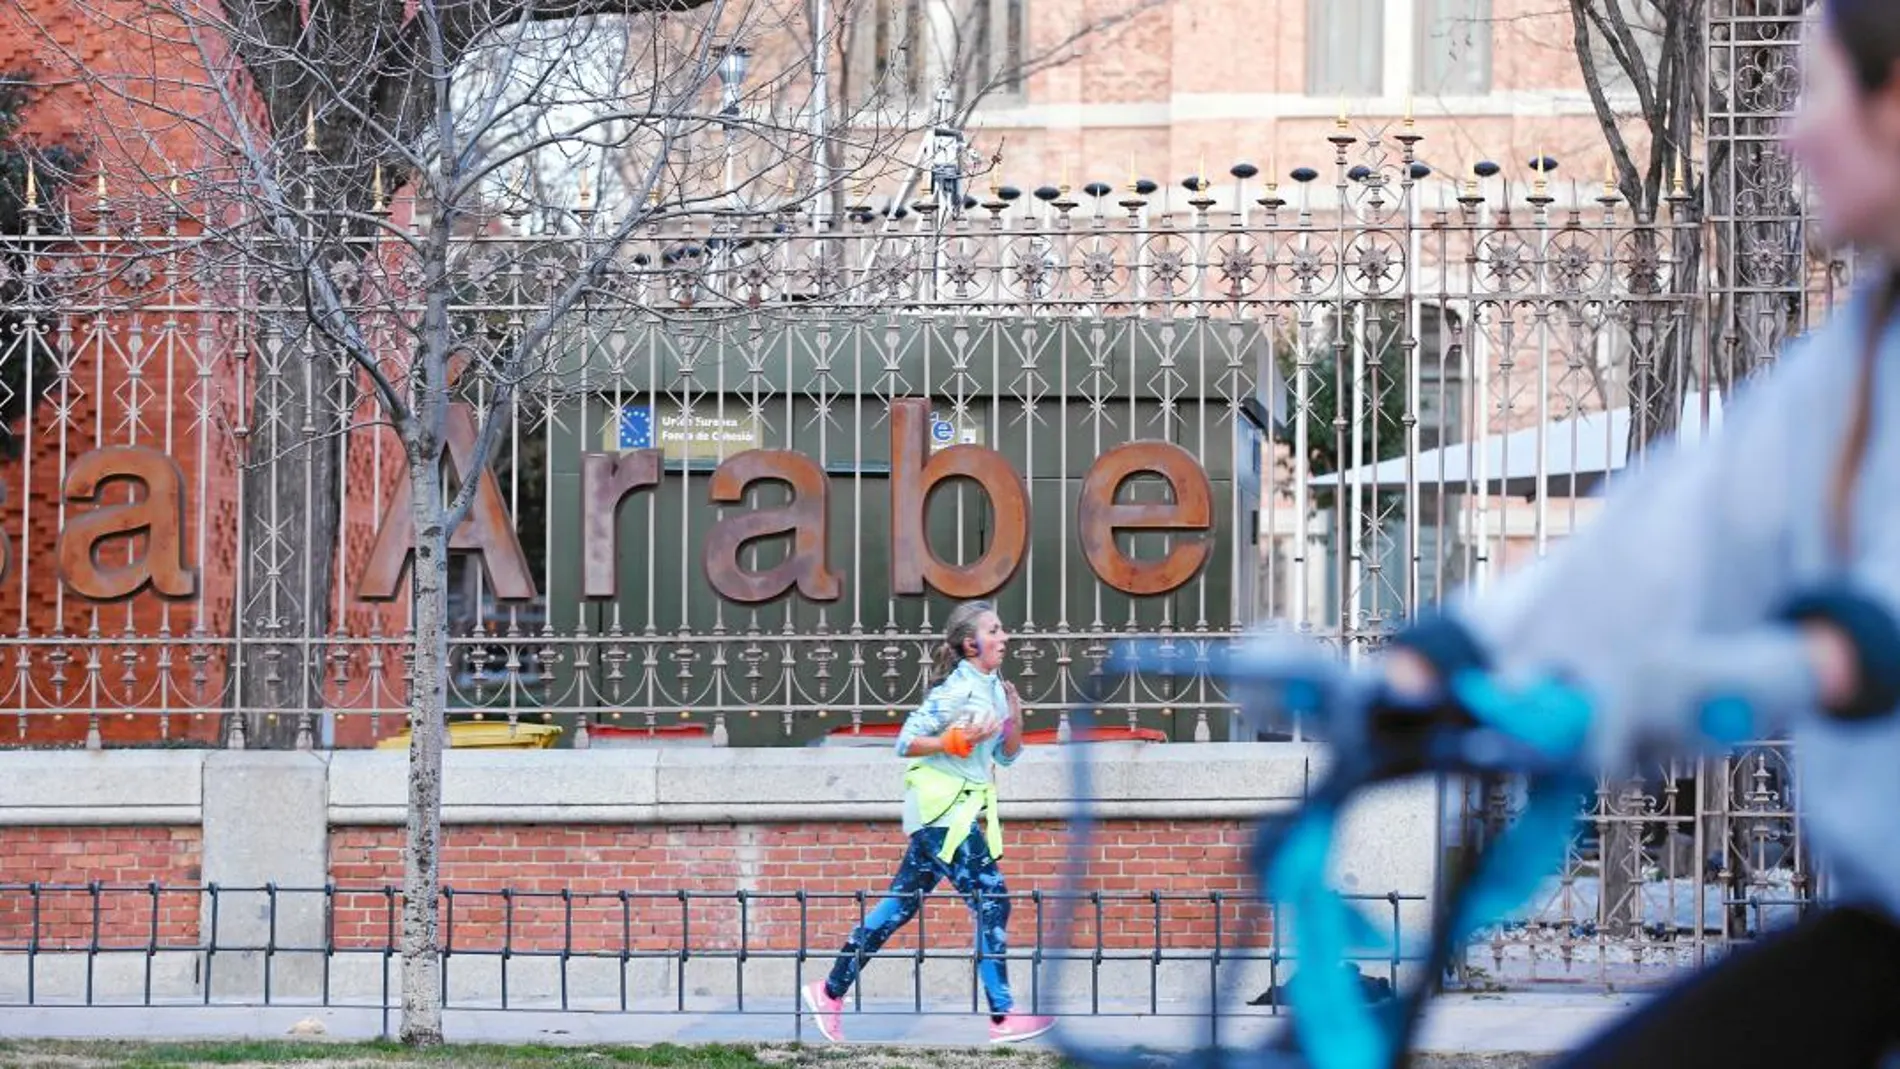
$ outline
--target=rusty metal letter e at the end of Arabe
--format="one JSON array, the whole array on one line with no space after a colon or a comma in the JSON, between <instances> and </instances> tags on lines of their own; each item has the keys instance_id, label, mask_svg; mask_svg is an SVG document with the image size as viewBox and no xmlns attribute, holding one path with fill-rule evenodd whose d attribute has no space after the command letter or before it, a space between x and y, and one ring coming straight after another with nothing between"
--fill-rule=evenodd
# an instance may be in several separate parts
<instances>
[{"instance_id":1,"label":"rusty metal letter e at the end of Arabe","mask_svg":"<svg viewBox=\"0 0 1900 1069\"><path fill-rule=\"evenodd\" d=\"M1168 480L1172 503L1117 505L1115 492L1132 475L1153 473ZM1102 454L1081 482L1075 528L1081 553L1110 587L1125 594L1167 594L1195 577L1206 564L1205 537L1178 539L1161 560L1134 560L1115 545L1117 530L1206 532L1214 526L1214 490L1191 452L1172 442L1129 442Z\"/></svg>"}]
</instances>

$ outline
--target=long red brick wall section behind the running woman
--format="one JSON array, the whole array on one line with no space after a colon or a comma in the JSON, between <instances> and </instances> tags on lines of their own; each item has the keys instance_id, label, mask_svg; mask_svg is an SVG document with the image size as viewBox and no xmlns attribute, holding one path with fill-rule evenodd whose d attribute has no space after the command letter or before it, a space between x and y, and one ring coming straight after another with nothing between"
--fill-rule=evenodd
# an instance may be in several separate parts
<instances>
[{"instance_id":1,"label":"long red brick wall section behind the running woman","mask_svg":"<svg viewBox=\"0 0 1900 1069\"><path fill-rule=\"evenodd\" d=\"M1005 815L1007 816L1007 815ZM1024 894L1060 891L1066 841L1054 822L1003 826L1003 875L1013 900L1011 934L1034 940L1037 906ZM1226 820L1125 820L1098 830L1087 885L1104 894L1100 940L1110 949L1153 947L1159 911L1163 947L1214 944L1216 911L1226 944L1256 910L1220 902L1241 894L1246 830ZM828 949L876 904L902 854L891 824L697 824L697 826L460 826L445 830L443 883L454 894L450 949L730 951ZM338 883L338 947L380 947L390 900L372 889L403 877L401 830L331 832L331 877ZM511 900L502 887L517 892ZM733 894L747 889L743 906ZM574 898L564 900L562 891ZM680 898L678 891L701 892ZM800 940L800 904L806 892ZM1163 892L1157 902L1151 892ZM619 894L627 898L621 900ZM857 894L864 892L863 904ZM399 902L399 900L397 900ZM397 906L399 908L399 906ZM1043 902L1053 927L1054 902ZM925 904L931 946L969 946L969 913L946 887ZM446 928L445 928L446 932ZM1079 946L1094 946L1094 904L1077 906ZM887 951L916 947L910 925Z\"/></svg>"}]
</instances>

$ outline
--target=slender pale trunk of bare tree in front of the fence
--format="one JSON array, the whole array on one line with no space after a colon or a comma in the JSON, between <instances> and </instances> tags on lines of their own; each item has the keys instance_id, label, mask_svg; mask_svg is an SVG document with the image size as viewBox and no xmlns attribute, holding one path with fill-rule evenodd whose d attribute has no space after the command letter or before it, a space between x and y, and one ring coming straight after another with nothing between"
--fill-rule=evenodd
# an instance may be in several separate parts
<instances>
[{"instance_id":1,"label":"slender pale trunk of bare tree in front of the fence","mask_svg":"<svg viewBox=\"0 0 1900 1069\"><path fill-rule=\"evenodd\" d=\"M416 558L410 566L416 668L408 689L408 834L403 851L403 1029L408 1046L443 1042L437 946L443 837L443 735L448 697L448 528L441 450L408 442Z\"/></svg>"}]
</instances>

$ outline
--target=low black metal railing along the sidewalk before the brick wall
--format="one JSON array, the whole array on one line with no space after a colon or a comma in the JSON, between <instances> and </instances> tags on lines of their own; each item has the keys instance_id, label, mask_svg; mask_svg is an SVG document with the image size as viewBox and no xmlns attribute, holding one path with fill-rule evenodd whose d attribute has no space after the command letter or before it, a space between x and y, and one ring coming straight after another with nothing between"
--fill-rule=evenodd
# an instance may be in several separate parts
<instances>
[{"instance_id":1,"label":"low black metal railing along the sidewalk before the brick wall","mask_svg":"<svg viewBox=\"0 0 1900 1069\"><path fill-rule=\"evenodd\" d=\"M798 1012L798 989L823 974L884 896L445 887L443 1004ZM1296 961L1273 938L1279 908L1256 894L1024 891L1005 898L1009 951L988 959L1009 965L1030 1012L1275 1014L1275 991ZM1404 906L1425 898L1353 900L1391 947L1358 965L1396 984L1408 961ZM0 883L0 1006L380 1006L388 1031L399 1004L401 919L395 885ZM956 894L922 896L916 919L874 961L851 1012L978 1012L986 955ZM893 980L899 965L906 974ZM954 972L965 974L961 982ZM876 995L866 995L870 984ZM946 1001L952 984L956 1006ZM1235 984L1258 984L1262 993L1235 999Z\"/></svg>"}]
</instances>

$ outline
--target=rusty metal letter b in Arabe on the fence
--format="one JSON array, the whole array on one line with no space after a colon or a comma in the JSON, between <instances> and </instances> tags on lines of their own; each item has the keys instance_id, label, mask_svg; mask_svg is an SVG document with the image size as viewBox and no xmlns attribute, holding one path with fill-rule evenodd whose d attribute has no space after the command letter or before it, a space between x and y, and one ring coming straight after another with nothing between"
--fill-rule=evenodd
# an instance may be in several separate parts
<instances>
[{"instance_id":1,"label":"rusty metal letter b in Arabe on the fence","mask_svg":"<svg viewBox=\"0 0 1900 1069\"><path fill-rule=\"evenodd\" d=\"M952 598L982 598L1003 589L1030 547L1030 492L1003 454L950 446L925 461L929 408L918 397L891 403L891 591L922 594L929 583ZM923 511L946 478L971 478L990 496L994 534L982 556L950 566L931 553Z\"/></svg>"}]
</instances>

